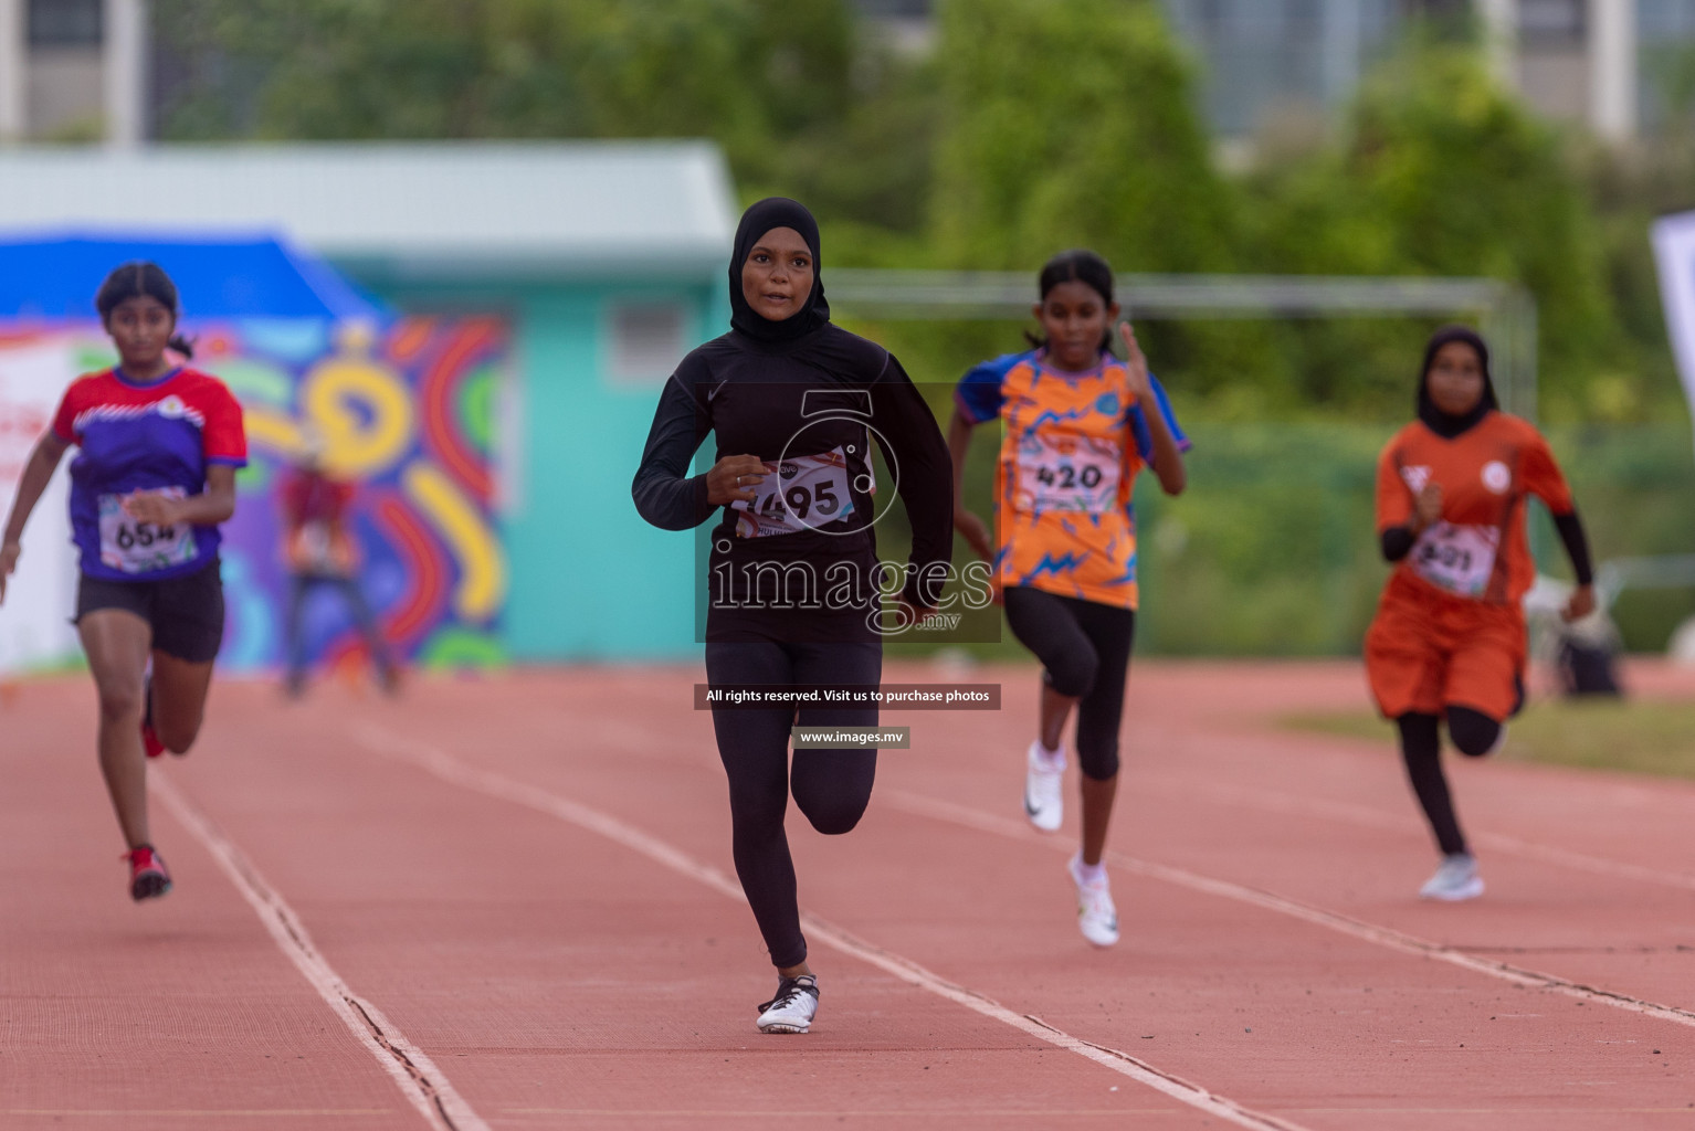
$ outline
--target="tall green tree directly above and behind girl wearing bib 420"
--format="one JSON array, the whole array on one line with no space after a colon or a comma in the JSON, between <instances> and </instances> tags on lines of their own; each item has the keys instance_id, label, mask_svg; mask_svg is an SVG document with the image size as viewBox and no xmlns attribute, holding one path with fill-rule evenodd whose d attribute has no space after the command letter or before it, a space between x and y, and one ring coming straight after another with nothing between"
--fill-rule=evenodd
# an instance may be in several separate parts
<instances>
[{"instance_id":1,"label":"tall green tree directly above and behind girl wearing bib 420","mask_svg":"<svg viewBox=\"0 0 1695 1131\"><path fill-rule=\"evenodd\" d=\"M1029 268L1090 246L1129 271L1232 266L1232 207L1188 63L1151 0L941 7L937 252Z\"/></svg>"}]
</instances>

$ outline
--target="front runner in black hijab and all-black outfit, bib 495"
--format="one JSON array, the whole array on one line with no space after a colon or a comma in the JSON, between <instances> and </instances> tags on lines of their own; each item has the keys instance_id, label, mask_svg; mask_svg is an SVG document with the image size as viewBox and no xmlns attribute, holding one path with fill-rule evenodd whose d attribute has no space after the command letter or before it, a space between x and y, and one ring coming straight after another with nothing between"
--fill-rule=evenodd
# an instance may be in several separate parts
<instances>
[{"instance_id":1,"label":"front runner in black hijab and all-black outfit, bib 495","mask_svg":"<svg viewBox=\"0 0 1695 1131\"><path fill-rule=\"evenodd\" d=\"M876 750L809 747L790 770L790 730L876 725L875 703L827 703L822 691L876 687L883 635L936 606L953 552L953 474L936 417L900 362L831 323L819 229L800 203L773 196L747 208L729 288L731 332L671 374L632 493L664 530L719 516L703 598L709 686L802 696L798 709L715 701L712 725L736 874L778 968L758 1026L805 1033L819 989L783 813L793 792L820 833L851 830L871 797ZM690 476L709 432L715 462ZM903 571L876 559L873 435L912 525ZM881 596L897 593L898 606L883 611Z\"/></svg>"}]
</instances>

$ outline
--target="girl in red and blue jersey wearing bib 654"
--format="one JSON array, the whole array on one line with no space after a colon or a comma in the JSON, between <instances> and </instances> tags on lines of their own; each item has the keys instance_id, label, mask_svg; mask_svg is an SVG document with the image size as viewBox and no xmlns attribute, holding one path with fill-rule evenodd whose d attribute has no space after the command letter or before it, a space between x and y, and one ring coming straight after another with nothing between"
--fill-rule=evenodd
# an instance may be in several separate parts
<instances>
[{"instance_id":1,"label":"girl in red and blue jersey wearing bib 654","mask_svg":"<svg viewBox=\"0 0 1695 1131\"><path fill-rule=\"evenodd\" d=\"M127 262L95 296L119 364L71 383L36 444L0 535L0 601L24 523L71 445L71 533L81 554L76 632L100 694L100 770L129 845L131 897L171 889L147 828L147 757L186 753L224 638L219 523L247 462L241 405L176 364L176 284ZM151 662L151 676L149 676Z\"/></svg>"}]
</instances>

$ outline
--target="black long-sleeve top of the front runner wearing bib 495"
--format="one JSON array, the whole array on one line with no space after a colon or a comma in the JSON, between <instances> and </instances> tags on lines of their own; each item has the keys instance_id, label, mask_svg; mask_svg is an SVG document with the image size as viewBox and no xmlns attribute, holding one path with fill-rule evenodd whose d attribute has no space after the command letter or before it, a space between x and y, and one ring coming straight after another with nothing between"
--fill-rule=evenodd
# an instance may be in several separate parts
<instances>
[{"instance_id":1,"label":"black long-sleeve top of the front runner wearing bib 495","mask_svg":"<svg viewBox=\"0 0 1695 1131\"><path fill-rule=\"evenodd\" d=\"M631 486L654 527L688 530L720 510L707 501L707 476L688 474L709 432L714 459L756 455L776 476L790 474L795 457L839 452L851 498L839 508L844 518L822 521L815 510L810 528L768 537L746 537L754 523L722 508L709 562L709 642L880 638L870 620L875 516L890 488L912 525L903 596L936 604L953 559L953 467L936 417L888 350L824 325L781 344L732 330L688 354L666 381ZM873 483L873 435L895 484Z\"/></svg>"}]
</instances>

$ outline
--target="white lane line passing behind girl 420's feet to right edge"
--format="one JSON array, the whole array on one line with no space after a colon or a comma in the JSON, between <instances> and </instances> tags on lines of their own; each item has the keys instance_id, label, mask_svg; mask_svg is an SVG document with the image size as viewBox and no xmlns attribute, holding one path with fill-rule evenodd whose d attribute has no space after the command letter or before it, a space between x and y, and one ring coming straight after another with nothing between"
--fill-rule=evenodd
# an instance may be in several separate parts
<instances>
[{"instance_id":1,"label":"white lane line passing behind girl 420's feet to right edge","mask_svg":"<svg viewBox=\"0 0 1695 1131\"><path fill-rule=\"evenodd\" d=\"M1022 840L1042 848L1053 848L1064 853L1071 852L1070 843L1042 836L1032 831L1024 821L1015 821L993 813L983 813L981 809L971 809L968 806L954 804L953 801L925 797L903 789L880 789L878 797L885 804L892 804L919 816L961 825L964 828L975 828L997 836ZM1314 923L1342 935L1351 935L1368 943L1387 946L1388 950L1398 950L1405 955L1436 958L1437 962L1448 962L1451 965L1473 970L1476 974L1487 974L1488 977L1512 982L1515 985L1546 989L1556 994L1564 994L1566 997L1576 997L1578 1001L1593 1001L1617 1009L1626 1009L1629 1012L1637 1012L1646 1018L1654 1018L1658 1021L1671 1021L1673 1024L1695 1028L1695 1012L1688 1009L1661 1006L1658 1002L1631 997L1629 994L1619 994L1598 985L1573 982L1570 979L1542 974L1539 970L1526 970L1524 967L1515 967L1507 962L1480 958L1463 950L1454 950L1451 946L1444 946L1442 943L1432 943L1388 926L1376 926L1375 923L1354 919L1336 911L1325 911L1324 908L1314 908L1283 896L1273 896L1271 892L1259 891L1256 887L1244 887L1242 884L1232 884L1229 880L1215 880L1210 875L1200 875L1186 869L1175 869L1164 863L1139 860L1136 857L1127 857L1122 852L1109 850L1105 855L1114 867L1124 869L1125 872L1164 880L1166 884L1176 884L1178 887L1205 892L1209 896L1219 896L1220 899L1234 899L1236 902L1253 904L1256 908L1264 908L1266 911L1276 911L1278 914L1303 919L1305 923Z\"/></svg>"}]
</instances>

